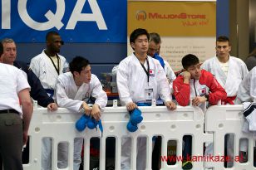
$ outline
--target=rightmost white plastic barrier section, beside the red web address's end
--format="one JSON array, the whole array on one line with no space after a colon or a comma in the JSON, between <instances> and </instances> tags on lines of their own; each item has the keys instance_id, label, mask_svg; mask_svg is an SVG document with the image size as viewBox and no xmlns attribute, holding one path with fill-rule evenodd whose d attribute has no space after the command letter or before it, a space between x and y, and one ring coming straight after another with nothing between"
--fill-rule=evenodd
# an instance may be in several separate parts
<instances>
[{"instance_id":1,"label":"rightmost white plastic barrier section, beside the red web address's end","mask_svg":"<svg viewBox=\"0 0 256 170\"><path fill-rule=\"evenodd\" d=\"M234 158L239 156L239 139L249 140L249 160L247 163L234 161L234 167L228 169L251 170L254 168L254 134L246 134L242 131L244 125L244 115L242 105L222 105L212 106L206 111L205 131L214 134L214 156L224 156L224 136L234 134ZM226 169L221 161L210 161L205 163L205 167L216 170Z\"/></svg>"}]
</instances>

